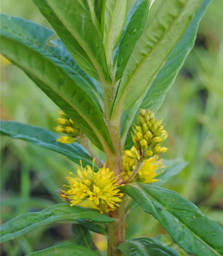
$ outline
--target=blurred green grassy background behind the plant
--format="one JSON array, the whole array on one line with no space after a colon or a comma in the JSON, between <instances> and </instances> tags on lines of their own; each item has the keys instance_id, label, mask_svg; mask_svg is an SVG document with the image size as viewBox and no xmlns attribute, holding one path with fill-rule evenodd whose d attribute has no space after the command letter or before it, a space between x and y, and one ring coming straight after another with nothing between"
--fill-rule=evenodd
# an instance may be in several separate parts
<instances>
[{"instance_id":1,"label":"blurred green grassy background behind the plant","mask_svg":"<svg viewBox=\"0 0 223 256\"><path fill-rule=\"evenodd\" d=\"M162 0L156 0L151 16ZM133 1L130 1L132 4ZM172 89L158 112L165 118L170 148L165 158L184 158L188 166L165 185L190 199L223 225L223 1L213 0ZM3 0L1 12L49 26L31 0ZM53 130L58 108L26 75L1 58L1 119ZM1 137L1 224L28 211L63 202L59 191L75 164L25 141ZM127 238L155 237L161 225L140 208L127 217ZM38 228L5 243L2 256L22 256L69 240L67 225ZM100 249L104 237L94 234ZM168 243L168 242L167 242ZM173 245L175 246L175 245ZM181 252L184 255L183 252Z\"/></svg>"}]
</instances>

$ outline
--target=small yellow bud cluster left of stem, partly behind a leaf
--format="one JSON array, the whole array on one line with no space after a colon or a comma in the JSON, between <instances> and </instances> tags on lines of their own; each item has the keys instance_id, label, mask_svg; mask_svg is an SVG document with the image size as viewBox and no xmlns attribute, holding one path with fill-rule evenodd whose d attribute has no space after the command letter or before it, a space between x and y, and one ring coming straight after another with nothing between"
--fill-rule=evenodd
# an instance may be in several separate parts
<instances>
[{"instance_id":1,"label":"small yellow bud cluster left of stem, partly behind a leaf","mask_svg":"<svg viewBox=\"0 0 223 256\"><path fill-rule=\"evenodd\" d=\"M80 135L80 129L65 113L59 111L59 118L57 119L60 124L55 129L58 132L68 134L69 136L60 136L59 141L64 144L71 144L78 141L78 136Z\"/></svg>"}]
</instances>

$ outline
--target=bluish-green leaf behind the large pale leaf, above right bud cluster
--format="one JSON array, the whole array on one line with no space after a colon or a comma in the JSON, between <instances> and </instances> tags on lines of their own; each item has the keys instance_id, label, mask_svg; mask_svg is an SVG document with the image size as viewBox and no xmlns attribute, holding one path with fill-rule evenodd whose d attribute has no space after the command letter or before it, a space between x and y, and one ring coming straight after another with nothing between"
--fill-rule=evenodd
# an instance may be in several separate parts
<instances>
[{"instance_id":1,"label":"bluish-green leaf behind the large pale leaf, above right bud cluster","mask_svg":"<svg viewBox=\"0 0 223 256\"><path fill-rule=\"evenodd\" d=\"M137 100L137 102L128 111L126 111L125 115L123 115L121 133L122 144L125 145L125 148L129 148L132 145L130 127L132 122L137 122L136 112L138 109L151 108L157 112L164 102L167 92L171 88L178 72L180 71L180 68L184 64L185 58L194 46L198 25L210 1L211 0L202 1L182 38L175 45L173 51L165 61L164 66L158 71L157 77L152 83L151 88L148 88L149 90L146 89L143 95Z\"/></svg>"}]
</instances>

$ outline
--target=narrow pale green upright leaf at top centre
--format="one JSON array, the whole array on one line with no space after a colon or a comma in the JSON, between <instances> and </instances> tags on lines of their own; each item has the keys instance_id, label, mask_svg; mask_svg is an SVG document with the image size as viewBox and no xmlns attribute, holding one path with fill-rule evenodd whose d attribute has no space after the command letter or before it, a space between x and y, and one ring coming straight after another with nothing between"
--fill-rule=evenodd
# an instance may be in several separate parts
<instances>
[{"instance_id":1,"label":"narrow pale green upright leaf at top centre","mask_svg":"<svg viewBox=\"0 0 223 256\"><path fill-rule=\"evenodd\" d=\"M112 72L113 50L122 38L128 0L105 1L102 14L103 43L108 68Z\"/></svg>"}]
</instances>

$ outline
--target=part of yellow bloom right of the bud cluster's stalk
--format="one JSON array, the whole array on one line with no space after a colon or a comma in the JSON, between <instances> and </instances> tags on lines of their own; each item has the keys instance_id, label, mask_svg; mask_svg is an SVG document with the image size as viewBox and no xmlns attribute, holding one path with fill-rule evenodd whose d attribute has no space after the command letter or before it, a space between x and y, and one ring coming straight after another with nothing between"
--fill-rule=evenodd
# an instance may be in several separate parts
<instances>
[{"instance_id":1,"label":"part of yellow bloom right of the bud cluster's stalk","mask_svg":"<svg viewBox=\"0 0 223 256\"><path fill-rule=\"evenodd\" d=\"M162 164L162 159L158 160L158 156L153 156L150 159L146 159L142 165L142 167L139 169L138 172L138 179L140 182L143 183L153 183L156 181L161 181L159 179L154 179L156 176L160 175L164 172L162 170L159 173L156 173L158 169L165 168Z\"/></svg>"}]
</instances>

